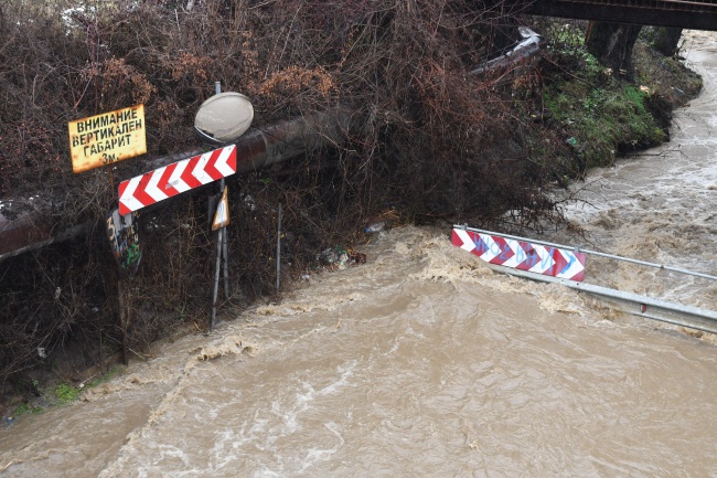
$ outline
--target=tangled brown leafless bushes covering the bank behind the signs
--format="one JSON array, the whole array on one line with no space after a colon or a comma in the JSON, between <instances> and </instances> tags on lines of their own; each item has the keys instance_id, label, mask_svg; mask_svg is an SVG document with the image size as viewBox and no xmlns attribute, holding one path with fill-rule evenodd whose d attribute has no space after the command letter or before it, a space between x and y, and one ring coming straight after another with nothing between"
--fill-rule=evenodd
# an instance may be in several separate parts
<instances>
[{"instance_id":1,"label":"tangled brown leafless bushes covering the bank behind the signs","mask_svg":"<svg viewBox=\"0 0 717 478\"><path fill-rule=\"evenodd\" d=\"M539 91L539 73L515 84L506 71L468 74L517 39L500 2L38 3L0 4L0 200L39 195L57 227L92 226L83 241L0 263L0 385L22 389L20 372L38 365L72 380L58 365L68 344L86 364L117 352L117 268L101 220L118 180L199 146L194 115L215 82L252 99L255 128L336 105L351 111L335 147L229 181L232 295L222 306L276 293L279 204L288 279L317 267L325 247L358 244L363 224L386 211L404 222L536 225L555 212L541 191L575 168L550 160L566 147L549 128L515 114ZM67 121L140 103L148 153L73 174ZM141 215L132 350L178 325L206 327L215 192Z\"/></svg>"}]
</instances>

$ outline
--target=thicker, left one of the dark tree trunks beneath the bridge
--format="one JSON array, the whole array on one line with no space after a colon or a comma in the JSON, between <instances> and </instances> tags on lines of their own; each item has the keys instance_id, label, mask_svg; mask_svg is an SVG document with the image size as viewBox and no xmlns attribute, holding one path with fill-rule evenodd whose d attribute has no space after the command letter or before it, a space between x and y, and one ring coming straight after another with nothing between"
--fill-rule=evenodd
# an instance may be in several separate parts
<instances>
[{"instance_id":1,"label":"thicker, left one of the dark tree trunks beneath the bridge","mask_svg":"<svg viewBox=\"0 0 717 478\"><path fill-rule=\"evenodd\" d=\"M632 49L640 29L640 25L595 22L586 42L588 51L612 68L614 75L632 79Z\"/></svg>"}]
</instances>

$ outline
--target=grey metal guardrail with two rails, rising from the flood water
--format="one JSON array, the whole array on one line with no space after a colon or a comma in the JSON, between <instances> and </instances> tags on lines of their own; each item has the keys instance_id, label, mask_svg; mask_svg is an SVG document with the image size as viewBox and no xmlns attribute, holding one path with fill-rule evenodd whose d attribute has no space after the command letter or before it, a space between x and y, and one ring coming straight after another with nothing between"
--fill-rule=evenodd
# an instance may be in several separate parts
<instances>
[{"instance_id":1,"label":"grey metal guardrail with two rails, rising from the flood water","mask_svg":"<svg viewBox=\"0 0 717 478\"><path fill-rule=\"evenodd\" d=\"M709 274L696 273L681 267L672 267L662 264L654 264L645 261L638 261L629 257L617 256L613 254L600 253L597 251L588 251L588 249L580 248L579 246L576 247L576 246L561 245L561 244L554 244L545 241L536 241L527 237L520 237L510 234L502 234L492 231L468 227L467 225L453 225L453 227L464 230L464 231L472 231L479 234L496 235L509 240L523 241L523 242L545 245L549 247L572 249L588 255L595 255L595 256L606 257L609 259L622 261L622 262L636 264L641 266L655 267L664 270L671 270L679 274L686 274L696 277L707 278L710 280L717 280L717 276L713 276ZM575 290L580 290L584 293L599 296L606 300L617 304L621 310L631 314L633 316L643 317L645 319L659 320L662 322L686 327L689 329L700 330L704 332L717 333L717 312L714 310L702 309L698 307L687 306L684 304L670 302L665 300L654 299L648 296L642 296L639 294L625 293L622 290L611 289L608 287L597 286L592 284L585 284L575 280L567 280L557 277L545 276L542 274L514 269L511 267L500 266L495 264L490 264L490 263L485 263L485 264L490 268L504 274L510 274L513 276L523 277L531 280L560 284L563 286L569 287Z\"/></svg>"}]
</instances>

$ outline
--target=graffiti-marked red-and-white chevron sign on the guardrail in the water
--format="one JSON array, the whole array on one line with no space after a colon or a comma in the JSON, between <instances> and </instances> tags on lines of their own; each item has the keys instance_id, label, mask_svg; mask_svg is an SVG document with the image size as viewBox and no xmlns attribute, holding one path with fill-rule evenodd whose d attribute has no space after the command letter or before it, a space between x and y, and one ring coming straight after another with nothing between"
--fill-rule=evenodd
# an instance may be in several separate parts
<instances>
[{"instance_id":1,"label":"graffiti-marked red-and-white chevron sign on the guardrail in the water","mask_svg":"<svg viewBox=\"0 0 717 478\"><path fill-rule=\"evenodd\" d=\"M452 243L491 264L582 282L582 253L531 244L496 235L453 229Z\"/></svg>"}]
</instances>

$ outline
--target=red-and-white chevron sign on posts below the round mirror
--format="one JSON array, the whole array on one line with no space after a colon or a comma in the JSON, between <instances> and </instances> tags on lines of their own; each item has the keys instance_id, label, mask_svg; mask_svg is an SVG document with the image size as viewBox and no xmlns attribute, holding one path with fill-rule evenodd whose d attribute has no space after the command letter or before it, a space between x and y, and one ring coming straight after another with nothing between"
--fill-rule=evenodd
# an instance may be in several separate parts
<instances>
[{"instance_id":1,"label":"red-and-white chevron sign on posts below the round mirror","mask_svg":"<svg viewBox=\"0 0 717 478\"><path fill-rule=\"evenodd\" d=\"M146 208L236 172L234 145L146 172L119 184L119 213Z\"/></svg>"}]
</instances>

